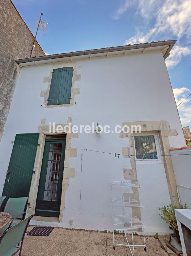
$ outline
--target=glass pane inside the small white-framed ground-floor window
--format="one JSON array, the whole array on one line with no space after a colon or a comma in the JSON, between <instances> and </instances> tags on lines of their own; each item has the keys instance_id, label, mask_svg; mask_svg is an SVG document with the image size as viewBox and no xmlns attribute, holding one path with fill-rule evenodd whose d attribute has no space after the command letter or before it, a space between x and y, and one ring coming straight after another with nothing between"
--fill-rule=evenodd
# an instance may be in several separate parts
<instances>
[{"instance_id":1,"label":"glass pane inside the small white-framed ground-floor window","mask_svg":"<svg viewBox=\"0 0 191 256\"><path fill-rule=\"evenodd\" d=\"M154 154L155 159L157 159L154 135L134 136L134 139L137 159L141 159L143 154L145 154L148 159L153 159Z\"/></svg>"}]
</instances>

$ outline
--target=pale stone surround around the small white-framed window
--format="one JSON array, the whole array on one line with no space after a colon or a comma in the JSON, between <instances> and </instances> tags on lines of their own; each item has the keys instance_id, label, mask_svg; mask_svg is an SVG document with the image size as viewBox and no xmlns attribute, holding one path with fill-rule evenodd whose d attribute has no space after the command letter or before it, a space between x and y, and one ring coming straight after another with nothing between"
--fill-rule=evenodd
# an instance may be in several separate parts
<instances>
[{"instance_id":1,"label":"pale stone surround around the small white-framed window","mask_svg":"<svg viewBox=\"0 0 191 256\"><path fill-rule=\"evenodd\" d=\"M178 133L176 130L171 130L170 125L167 121L137 121L137 122L124 122L122 123L122 126L128 125L131 127L131 125L140 125L141 130L145 132L158 132L159 134L159 140L160 140L160 146L162 150L162 155L170 155L170 149L173 147L170 147L169 144L169 136L177 136ZM120 133L120 138L129 138L129 147L123 147L122 148L122 155L127 155L123 157L128 157L129 155L134 155L135 149L134 149L134 138L132 133ZM131 163L131 169L123 169L123 175L125 180L131 180L137 182L137 170L136 170L136 160L135 158L130 159ZM172 204L176 204L179 206L179 200L176 190L176 179L174 175L174 170L172 166L172 160L171 156L163 156L163 163L167 178L167 184L168 184L168 190L170 194L170 199ZM132 199L138 199L138 189L132 188L133 193L130 194L130 197ZM124 195L125 198L126 195ZM137 216L138 218L141 218L140 209L139 208L132 208L132 215Z\"/></svg>"}]
</instances>

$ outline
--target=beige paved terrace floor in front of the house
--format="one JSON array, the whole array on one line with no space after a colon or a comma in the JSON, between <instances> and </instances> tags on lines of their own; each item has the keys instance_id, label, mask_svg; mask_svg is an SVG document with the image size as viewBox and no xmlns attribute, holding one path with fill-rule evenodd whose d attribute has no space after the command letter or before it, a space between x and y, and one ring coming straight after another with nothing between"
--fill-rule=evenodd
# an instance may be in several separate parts
<instances>
[{"instance_id":1,"label":"beige paved terrace floor in front of the house","mask_svg":"<svg viewBox=\"0 0 191 256\"><path fill-rule=\"evenodd\" d=\"M30 231L33 226L28 227ZM129 242L131 236L128 235ZM115 235L117 243L125 243L124 234ZM142 236L134 236L135 244L142 244ZM135 256L168 256L159 240L146 237L146 249L135 249ZM17 253L16 256L19 254ZM49 236L25 236L22 256L130 256L128 248L117 246L113 250L113 234L99 231L54 228Z\"/></svg>"}]
</instances>

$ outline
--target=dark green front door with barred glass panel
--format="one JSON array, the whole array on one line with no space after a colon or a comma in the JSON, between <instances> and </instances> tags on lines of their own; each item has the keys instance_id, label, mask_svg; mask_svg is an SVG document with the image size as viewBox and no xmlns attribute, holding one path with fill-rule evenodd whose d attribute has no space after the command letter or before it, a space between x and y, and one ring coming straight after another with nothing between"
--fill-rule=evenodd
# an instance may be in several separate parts
<instances>
[{"instance_id":1,"label":"dark green front door with barred glass panel","mask_svg":"<svg viewBox=\"0 0 191 256\"><path fill-rule=\"evenodd\" d=\"M46 136L35 215L59 217L66 137Z\"/></svg>"}]
</instances>

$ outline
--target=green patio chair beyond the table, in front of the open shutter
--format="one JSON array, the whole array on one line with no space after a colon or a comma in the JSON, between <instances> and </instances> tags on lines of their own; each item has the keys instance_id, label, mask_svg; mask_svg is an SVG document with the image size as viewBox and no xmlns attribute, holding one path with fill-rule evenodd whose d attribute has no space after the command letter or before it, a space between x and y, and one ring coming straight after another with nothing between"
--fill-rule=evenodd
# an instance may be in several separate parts
<instances>
[{"instance_id":1,"label":"green patio chair beyond the table, in front of the open shutter","mask_svg":"<svg viewBox=\"0 0 191 256\"><path fill-rule=\"evenodd\" d=\"M18 223L18 220L22 220L25 206L27 204L28 197L14 197L9 198L4 209L4 213L10 213L12 217L11 226L14 226ZM15 222L17 220L17 222ZM0 230L0 236L3 232L10 226L8 223L5 227ZM11 227L10 226L10 227Z\"/></svg>"}]
</instances>

